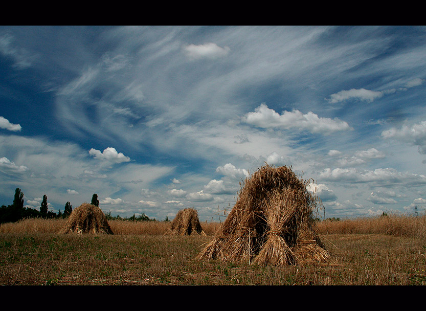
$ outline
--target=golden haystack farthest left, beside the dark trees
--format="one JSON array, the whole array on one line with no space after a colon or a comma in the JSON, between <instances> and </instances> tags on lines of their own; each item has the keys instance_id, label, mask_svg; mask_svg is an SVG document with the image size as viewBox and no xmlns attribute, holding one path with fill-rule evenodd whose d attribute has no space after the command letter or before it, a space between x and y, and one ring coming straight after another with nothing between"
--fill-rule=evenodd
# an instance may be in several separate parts
<instances>
[{"instance_id":1,"label":"golden haystack farthest left, beside the dark trees","mask_svg":"<svg viewBox=\"0 0 426 311\"><path fill-rule=\"evenodd\" d=\"M59 233L114 234L102 210L88 203L83 203L72 211Z\"/></svg>"}]
</instances>

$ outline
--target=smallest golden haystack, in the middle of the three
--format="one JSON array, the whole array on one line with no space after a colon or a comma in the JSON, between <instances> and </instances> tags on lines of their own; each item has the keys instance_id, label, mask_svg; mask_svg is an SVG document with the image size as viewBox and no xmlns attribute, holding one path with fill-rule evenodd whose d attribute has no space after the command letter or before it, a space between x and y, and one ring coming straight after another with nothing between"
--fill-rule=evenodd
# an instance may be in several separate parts
<instances>
[{"instance_id":1,"label":"smallest golden haystack, in the middle of the three","mask_svg":"<svg viewBox=\"0 0 426 311\"><path fill-rule=\"evenodd\" d=\"M177 212L171 223L169 233L174 235L206 235L199 223L198 212L193 208L185 208Z\"/></svg>"}]
</instances>

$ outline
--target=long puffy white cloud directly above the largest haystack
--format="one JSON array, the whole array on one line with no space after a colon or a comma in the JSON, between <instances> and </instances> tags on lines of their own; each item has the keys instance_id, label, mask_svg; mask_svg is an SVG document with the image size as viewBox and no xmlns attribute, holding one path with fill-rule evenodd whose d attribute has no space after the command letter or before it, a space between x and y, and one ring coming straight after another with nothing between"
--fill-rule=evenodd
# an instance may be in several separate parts
<instances>
[{"instance_id":1,"label":"long puffy white cloud directly above the largest haystack","mask_svg":"<svg viewBox=\"0 0 426 311\"><path fill-rule=\"evenodd\" d=\"M264 103L255 108L255 112L246 114L243 117L243 121L263 128L298 128L300 130L309 130L310 132L322 134L351 129L345 121L337 118L320 118L312 112L302 114L299 110L293 110L293 112L284 111L283 114L280 115L275 112L274 109L268 108Z\"/></svg>"}]
</instances>

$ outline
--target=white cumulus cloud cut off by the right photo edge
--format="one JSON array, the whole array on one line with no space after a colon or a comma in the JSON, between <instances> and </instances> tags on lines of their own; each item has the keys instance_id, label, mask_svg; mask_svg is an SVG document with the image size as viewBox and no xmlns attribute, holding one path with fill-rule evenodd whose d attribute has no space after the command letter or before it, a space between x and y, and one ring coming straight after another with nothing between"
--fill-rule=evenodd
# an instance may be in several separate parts
<instances>
[{"instance_id":1,"label":"white cumulus cloud cut off by the right photo edge","mask_svg":"<svg viewBox=\"0 0 426 311\"><path fill-rule=\"evenodd\" d=\"M382 131L382 137L385 139L393 138L410 145L418 146L420 153L426 153L426 121L408 126L403 125L401 128L392 127Z\"/></svg>"}]
</instances>

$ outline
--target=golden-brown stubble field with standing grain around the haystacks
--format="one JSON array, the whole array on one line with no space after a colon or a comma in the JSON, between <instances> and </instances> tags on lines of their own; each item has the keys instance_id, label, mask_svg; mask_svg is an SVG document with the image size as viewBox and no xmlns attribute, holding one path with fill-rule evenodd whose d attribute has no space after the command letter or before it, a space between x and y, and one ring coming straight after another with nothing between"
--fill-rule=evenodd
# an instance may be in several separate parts
<instances>
[{"instance_id":1,"label":"golden-brown stubble field with standing grain around the haystacks","mask_svg":"<svg viewBox=\"0 0 426 311\"><path fill-rule=\"evenodd\" d=\"M326 263L256 266L195 259L207 236L164 221L110 220L115 235L60 235L65 220L0 226L2 285L425 285L426 215L320 221Z\"/></svg>"}]
</instances>

